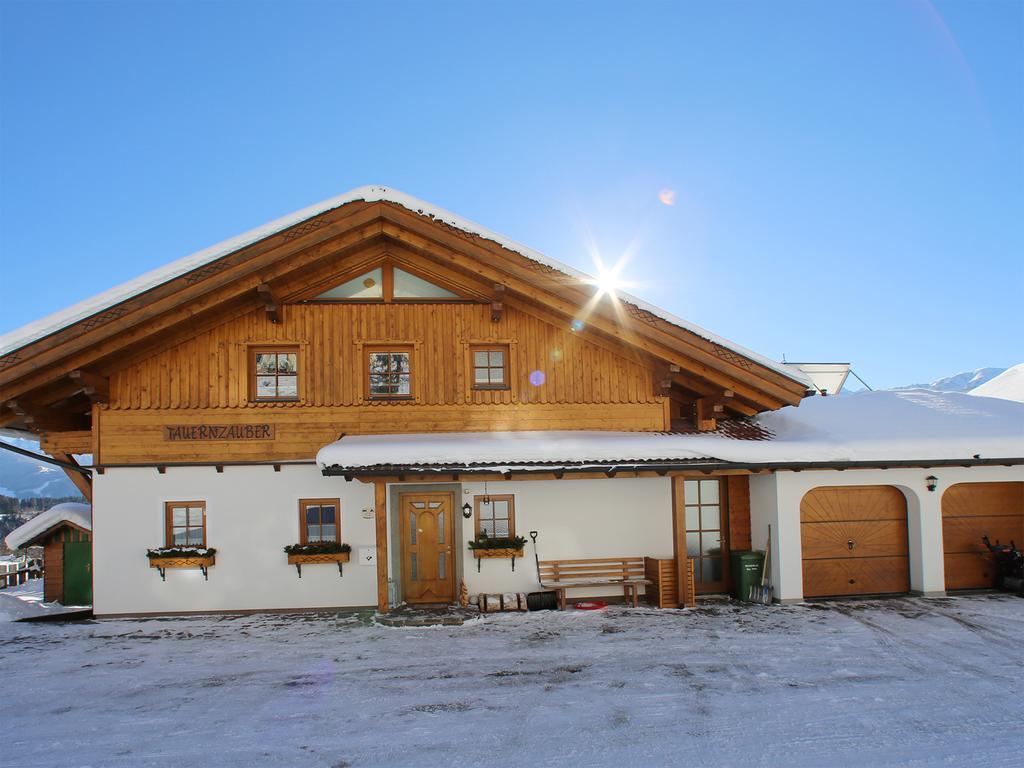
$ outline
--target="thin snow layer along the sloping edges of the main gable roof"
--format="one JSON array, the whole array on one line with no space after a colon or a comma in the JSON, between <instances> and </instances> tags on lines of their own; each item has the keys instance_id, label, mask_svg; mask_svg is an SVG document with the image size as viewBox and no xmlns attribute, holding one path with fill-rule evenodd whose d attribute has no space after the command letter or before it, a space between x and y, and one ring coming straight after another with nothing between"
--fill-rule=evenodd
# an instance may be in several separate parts
<instances>
[{"instance_id":1,"label":"thin snow layer along the sloping edges of the main gable roof","mask_svg":"<svg viewBox=\"0 0 1024 768\"><path fill-rule=\"evenodd\" d=\"M287 216L283 216L267 224L258 226L255 229L250 229L243 234L225 240L215 246L210 246L202 251L197 251L196 253L180 258L177 261L173 261L170 264L153 269L135 280L128 281L127 283L123 283L116 288L112 288L109 291L104 291L101 294L93 296L91 299L86 299L85 301L68 307L67 309L54 312L46 317L43 317L42 319L30 323L29 325L23 326L15 331L4 334L3 336L0 336L0 355L19 349L27 344L31 344L32 342L38 341L45 336L56 333L74 323L112 307L122 301L130 299L133 296L137 296L138 294L141 294L150 289L156 288L157 286L167 283L174 278L180 276L185 272L191 271L193 269L208 264L211 261L215 261L223 256L226 256L229 253L233 253L241 248L245 248L253 243L264 240L271 234L283 231L284 229L294 226L295 224L305 221L306 219L313 218L314 216L318 216L322 213L326 213L327 211L331 211L335 208L340 208L348 203L358 201L366 203L393 203L394 205L401 206L402 208L406 208L414 213L428 216L432 219L436 219L440 222L454 226L457 229L462 229L463 231L494 241L502 247L507 248L510 251L514 251L527 259L550 266L553 269L557 269L560 272L578 278L581 281L587 283L594 282L594 278L592 275L586 274L585 272L582 272L561 261L556 261L555 259L545 256L539 251L535 251L531 248L527 248L526 246L516 243L515 241L509 240L498 232L492 231L490 229L464 219L461 216L457 216L443 208L430 205L425 201L387 186L360 186L347 191L344 195L330 198L315 205L290 213ZM769 359L768 357L760 355L757 352L746 349L745 347L739 346L738 344L733 344L731 341L723 339L722 337L717 336L699 326L695 326L692 323L688 323L681 317L677 317L676 315L652 304L648 304L635 296L622 292L618 292L618 296L624 301L636 304L641 309L660 317L667 323L671 323L674 326L685 329L693 334L696 334L697 336L700 336L701 338L725 347L726 349L730 349L743 355L744 357L756 360L765 368L782 374L783 376L793 379L794 381L798 381L805 386L811 385L810 380L798 370L787 368L781 362L776 362L775 360Z\"/></svg>"}]
</instances>

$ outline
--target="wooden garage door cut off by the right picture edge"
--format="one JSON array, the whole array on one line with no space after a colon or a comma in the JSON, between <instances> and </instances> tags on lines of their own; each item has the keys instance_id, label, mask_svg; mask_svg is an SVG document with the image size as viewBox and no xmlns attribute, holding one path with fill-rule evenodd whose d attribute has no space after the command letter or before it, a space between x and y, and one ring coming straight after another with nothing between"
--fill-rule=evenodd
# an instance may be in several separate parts
<instances>
[{"instance_id":1,"label":"wooden garage door cut off by the right picture edge","mask_svg":"<svg viewBox=\"0 0 1024 768\"><path fill-rule=\"evenodd\" d=\"M993 544L1024 545L1024 482L962 482L942 495L947 590L994 586L992 556L983 536Z\"/></svg>"}]
</instances>

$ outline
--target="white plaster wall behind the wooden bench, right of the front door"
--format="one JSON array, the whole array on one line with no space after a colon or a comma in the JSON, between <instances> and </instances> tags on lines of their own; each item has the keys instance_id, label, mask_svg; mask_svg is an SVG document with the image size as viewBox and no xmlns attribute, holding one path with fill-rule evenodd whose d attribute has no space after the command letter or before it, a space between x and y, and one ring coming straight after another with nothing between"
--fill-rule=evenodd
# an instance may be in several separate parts
<instances>
[{"instance_id":1,"label":"white plaster wall behind the wooden bench, right of the front door","mask_svg":"<svg viewBox=\"0 0 1024 768\"><path fill-rule=\"evenodd\" d=\"M668 478L526 480L487 482L490 494L515 495L516 534L527 540L515 572L507 559L477 560L463 549L462 573L470 594L536 592L541 589L529 531L539 532L542 560L640 555L672 557L672 486ZM461 507L482 496L483 483L463 483ZM474 536L474 520L462 520L463 541ZM622 596L618 589L571 590L569 597Z\"/></svg>"}]
</instances>

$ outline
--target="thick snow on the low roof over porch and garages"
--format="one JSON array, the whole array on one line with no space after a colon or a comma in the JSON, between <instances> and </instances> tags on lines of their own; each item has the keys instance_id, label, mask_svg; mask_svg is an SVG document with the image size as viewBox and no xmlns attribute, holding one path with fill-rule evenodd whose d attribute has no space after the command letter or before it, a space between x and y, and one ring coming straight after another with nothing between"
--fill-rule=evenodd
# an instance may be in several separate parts
<instances>
[{"instance_id":1,"label":"thick snow on the low roof over porch and garages","mask_svg":"<svg viewBox=\"0 0 1024 768\"><path fill-rule=\"evenodd\" d=\"M927 462L1024 458L1024 404L967 394L904 390L813 397L762 414L774 436L723 433L468 432L344 437L316 462L334 471L375 467L543 464L731 463L741 465Z\"/></svg>"}]
</instances>

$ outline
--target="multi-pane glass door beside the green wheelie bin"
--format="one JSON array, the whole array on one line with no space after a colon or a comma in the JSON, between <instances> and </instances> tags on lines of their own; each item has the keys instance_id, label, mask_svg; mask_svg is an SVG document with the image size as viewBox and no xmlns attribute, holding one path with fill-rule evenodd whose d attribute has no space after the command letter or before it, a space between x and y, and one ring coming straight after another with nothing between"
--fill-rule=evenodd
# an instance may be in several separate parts
<instances>
[{"instance_id":1,"label":"multi-pane glass door beside the green wheelie bin","mask_svg":"<svg viewBox=\"0 0 1024 768\"><path fill-rule=\"evenodd\" d=\"M729 548L726 508L721 480L685 480L686 556L693 560L697 592L725 592Z\"/></svg>"}]
</instances>

